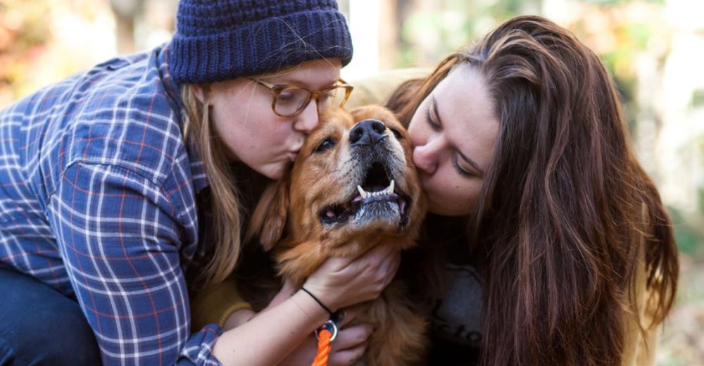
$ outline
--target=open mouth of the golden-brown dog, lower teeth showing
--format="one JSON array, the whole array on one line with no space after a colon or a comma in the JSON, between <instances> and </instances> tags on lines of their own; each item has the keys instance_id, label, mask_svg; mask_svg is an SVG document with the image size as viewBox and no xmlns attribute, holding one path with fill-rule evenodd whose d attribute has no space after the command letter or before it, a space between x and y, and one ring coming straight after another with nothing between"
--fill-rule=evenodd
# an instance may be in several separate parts
<instances>
[{"instance_id":1,"label":"open mouth of the golden-brown dog, lower teeth showing","mask_svg":"<svg viewBox=\"0 0 704 366\"><path fill-rule=\"evenodd\" d=\"M355 194L342 203L320 210L323 224L340 224L353 220L359 224L384 220L399 228L408 225L410 197L396 187L381 163L373 163Z\"/></svg>"}]
</instances>

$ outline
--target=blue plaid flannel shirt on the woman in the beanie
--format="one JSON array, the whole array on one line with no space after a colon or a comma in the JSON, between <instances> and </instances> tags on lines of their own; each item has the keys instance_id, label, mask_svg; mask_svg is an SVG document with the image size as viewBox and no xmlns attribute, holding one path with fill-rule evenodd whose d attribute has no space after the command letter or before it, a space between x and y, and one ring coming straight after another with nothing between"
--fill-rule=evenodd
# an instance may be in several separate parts
<instances>
[{"instance_id":1,"label":"blue plaid flannel shirt on the woman in the beanie","mask_svg":"<svg viewBox=\"0 0 704 366\"><path fill-rule=\"evenodd\" d=\"M189 332L208 183L178 94L159 47L0 111L0 266L75 295L105 365L219 364L220 327Z\"/></svg>"}]
</instances>

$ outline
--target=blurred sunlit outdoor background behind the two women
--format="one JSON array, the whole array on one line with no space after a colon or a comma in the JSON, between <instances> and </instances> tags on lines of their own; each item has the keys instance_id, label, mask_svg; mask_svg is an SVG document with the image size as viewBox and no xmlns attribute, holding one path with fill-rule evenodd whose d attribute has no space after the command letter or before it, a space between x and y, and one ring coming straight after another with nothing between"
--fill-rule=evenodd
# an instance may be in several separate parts
<instances>
[{"instance_id":1,"label":"blurred sunlit outdoor background behind the two women","mask_svg":"<svg viewBox=\"0 0 704 366\"><path fill-rule=\"evenodd\" d=\"M339 0L347 80L432 67L513 15L572 30L617 81L639 159L676 225L682 273L658 365L704 365L704 1ZM0 0L0 108L124 53L166 42L176 0Z\"/></svg>"}]
</instances>

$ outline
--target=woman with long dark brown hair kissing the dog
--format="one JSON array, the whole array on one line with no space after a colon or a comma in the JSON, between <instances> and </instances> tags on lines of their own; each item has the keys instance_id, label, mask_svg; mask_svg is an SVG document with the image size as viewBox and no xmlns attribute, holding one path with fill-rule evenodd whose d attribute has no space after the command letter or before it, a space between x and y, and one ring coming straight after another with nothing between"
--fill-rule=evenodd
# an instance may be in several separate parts
<instances>
[{"instance_id":1,"label":"woman with long dark brown hair kissing the dog","mask_svg":"<svg viewBox=\"0 0 704 366\"><path fill-rule=\"evenodd\" d=\"M549 20L514 18L389 106L431 213L403 267L429 268L415 283L433 365L653 363L677 247L591 50Z\"/></svg>"}]
</instances>

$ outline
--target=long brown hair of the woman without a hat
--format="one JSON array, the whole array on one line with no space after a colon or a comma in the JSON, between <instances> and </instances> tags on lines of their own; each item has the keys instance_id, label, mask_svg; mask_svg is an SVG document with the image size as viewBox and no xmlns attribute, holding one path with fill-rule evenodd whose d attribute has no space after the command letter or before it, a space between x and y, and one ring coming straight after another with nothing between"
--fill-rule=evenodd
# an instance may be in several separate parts
<instances>
[{"instance_id":1,"label":"long brown hair of the woman without a hat","mask_svg":"<svg viewBox=\"0 0 704 366\"><path fill-rule=\"evenodd\" d=\"M410 122L460 63L482 72L500 120L467 225L486 277L482 365L620 365L624 319L636 317L641 332L662 322L679 263L614 82L571 32L522 16L403 85L389 107ZM639 266L651 324L635 301Z\"/></svg>"}]
</instances>

